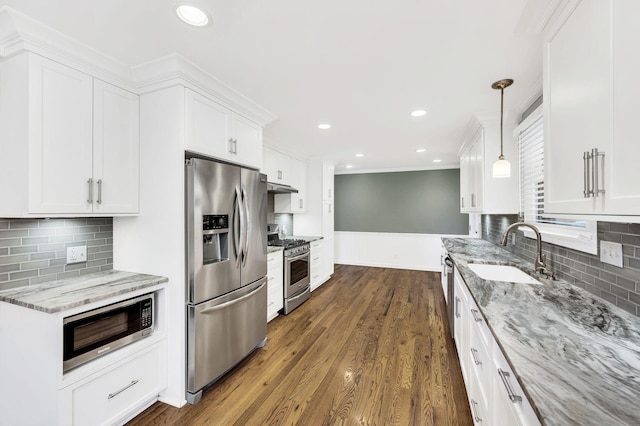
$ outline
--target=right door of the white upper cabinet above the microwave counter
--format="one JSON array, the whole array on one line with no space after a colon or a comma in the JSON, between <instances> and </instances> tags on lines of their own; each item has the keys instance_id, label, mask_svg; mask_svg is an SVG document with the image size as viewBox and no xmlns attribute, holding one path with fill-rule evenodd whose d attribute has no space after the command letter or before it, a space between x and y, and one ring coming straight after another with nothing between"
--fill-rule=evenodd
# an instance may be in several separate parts
<instances>
[{"instance_id":1,"label":"right door of the white upper cabinet above the microwave counter","mask_svg":"<svg viewBox=\"0 0 640 426\"><path fill-rule=\"evenodd\" d=\"M94 80L94 213L137 213L139 98Z\"/></svg>"}]
</instances>

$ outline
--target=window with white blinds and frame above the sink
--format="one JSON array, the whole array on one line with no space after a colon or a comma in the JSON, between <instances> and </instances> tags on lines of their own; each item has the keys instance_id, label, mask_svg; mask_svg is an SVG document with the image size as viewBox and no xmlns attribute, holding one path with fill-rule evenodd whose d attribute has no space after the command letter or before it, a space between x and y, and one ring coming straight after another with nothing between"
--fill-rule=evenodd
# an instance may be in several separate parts
<instances>
[{"instance_id":1,"label":"window with white blinds and frame above the sink","mask_svg":"<svg viewBox=\"0 0 640 426\"><path fill-rule=\"evenodd\" d=\"M524 221L535 225L546 242L587 253L597 253L595 221L554 217L544 213L544 119L542 106L517 128L520 151L520 211ZM534 234L522 229L527 237Z\"/></svg>"}]
</instances>

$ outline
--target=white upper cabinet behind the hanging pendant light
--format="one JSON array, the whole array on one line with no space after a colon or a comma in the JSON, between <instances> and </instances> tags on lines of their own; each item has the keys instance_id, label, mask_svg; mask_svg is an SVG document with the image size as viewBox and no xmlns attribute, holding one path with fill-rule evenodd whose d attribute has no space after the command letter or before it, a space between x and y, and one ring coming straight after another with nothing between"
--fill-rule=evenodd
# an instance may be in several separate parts
<instances>
[{"instance_id":1,"label":"white upper cabinet behind the hanging pendant light","mask_svg":"<svg viewBox=\"0 0 640 426\"><path fill-rule=\"evenodd\" d=\"M460 154L460 211L462 213L514 214L520 208L518 150L505 117L504 155L511 162L511 176L493 177L493 163L500 155L500 118L474 120Z\"/></svg>"}]
</instances>

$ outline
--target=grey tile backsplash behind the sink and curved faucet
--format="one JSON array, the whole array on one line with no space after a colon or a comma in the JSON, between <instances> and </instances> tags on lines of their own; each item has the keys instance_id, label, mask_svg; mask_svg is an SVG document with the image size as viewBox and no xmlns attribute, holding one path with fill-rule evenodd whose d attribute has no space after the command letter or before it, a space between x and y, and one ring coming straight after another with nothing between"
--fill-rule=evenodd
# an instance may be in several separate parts
<instances>
[{"instance_id":1,"label":"grey tile backsplash behind the sink and curved faucet","mask_svg":"<svg viewBox=\"0 0 640 426\"><path fill-rule=\"evenodd\" d=\"M517 221L518 215L482 215L482 238L498 244L504 229ZM536 241L520 231L515 235L516 243L509 242L506 248L533 263ZM600 241L622 243L624 267L602 263L599 253L592 255L548 243L542 248L549 269L559 278L640 316L640 224L598 222L598 247Z\"/></svg>"}]
</instances>

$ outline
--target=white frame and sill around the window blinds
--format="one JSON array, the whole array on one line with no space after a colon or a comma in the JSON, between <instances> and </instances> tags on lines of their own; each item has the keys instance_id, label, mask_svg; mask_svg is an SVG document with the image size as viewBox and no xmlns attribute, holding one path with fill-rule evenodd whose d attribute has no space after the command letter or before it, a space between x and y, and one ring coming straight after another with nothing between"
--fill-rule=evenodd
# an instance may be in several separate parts
<instances>
[{"instance_id":1,"label":"white frame and sill around the window blinds","mask_svg":"<svg viewBox=\"0 0 640 426\"><path fill-rule=\"evenodd\" d=\"M524 132L535 121L542 117L542 105L536 108L526 119L524 119L514 130L514 139L518 141L518 153L520 153L520 134ZM544 123L543 123L544 126ZM520 162L520 157L518 158ZM520 164L518 164L520 166ZM520 170L520 168L519 168ZM520 180L522 180L522 173L520 173ZM520 201L522 205L524 194L522 194L522 181L520 182ZM554 225L549 223L541 223L537 221L536 217L527 215L526 212L524 222L534 225L540 231L542 240L551 244L555 244L562 247L571 248L574 250L597 254L598 253L598 225L595 220L583 220L582 218L575 218L585 222L584 228L576 228L566 225ZM547 216L553 217L553 216ZM571 219L571 216L562 215L559 219ZM520 228L524 232L524 235L528 238L536 238L535 233L525 227Z\"/></svg>"}]
</instances>

